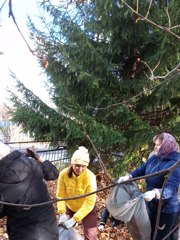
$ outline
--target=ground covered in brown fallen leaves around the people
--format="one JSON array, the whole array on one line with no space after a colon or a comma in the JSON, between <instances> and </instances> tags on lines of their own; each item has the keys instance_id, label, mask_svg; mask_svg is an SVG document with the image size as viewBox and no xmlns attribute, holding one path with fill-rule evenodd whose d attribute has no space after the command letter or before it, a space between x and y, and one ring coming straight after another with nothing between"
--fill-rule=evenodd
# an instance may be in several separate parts
<instances>
[{"instance_id":1,"label":"ground covered in brown fallen leaves around the people","mask_svg":"<svg viewBox=\"0 0 180 240\"><path fill-rule=\"evenodd\" d=\"M51 194L51 198L54 198L56 195L56 186L57 186L57 181L51 181L48 182L48 189ZM98 189L103 188L105 186L108 186L110 184L109 180L107 177L99 173L97 175L97 184L98 184ZM98 220L100 219L102 209L105 206L105 201L109 195L110 190L102 191L97 194L97 214L98 214ZM54 204L54 207L56 209L56 204ZM58 218L58 216L57 216ZM81 223L79 223L76 226L77 231L83 235L83 230ZM7 240L7 234L6 234L6 218L0 220L0 240ZM123 223L121 223L119 226L112 228L111 227L111 221L108 219L106 228L104 231L100 232L98 231L98 239L97 240L132 240L130 234L128 233L128 230L124 226Z\"/></svg>"}]
</instances>

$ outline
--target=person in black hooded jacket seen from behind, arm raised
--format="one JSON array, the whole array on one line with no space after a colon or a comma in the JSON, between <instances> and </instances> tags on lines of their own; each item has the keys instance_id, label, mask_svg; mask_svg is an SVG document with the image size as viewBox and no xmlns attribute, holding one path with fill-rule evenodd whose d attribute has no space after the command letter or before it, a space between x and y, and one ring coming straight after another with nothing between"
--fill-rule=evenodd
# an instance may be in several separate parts
<instances>
[{"instance_id":1,"label":"person in black hooded jacket seen from behind, arm raised","mask_svg":"<svg viewBox=\"0 0 180 240\"><path fill-rule=\"evenodd\" d=\"M0 217L7 217L9 240L58 240L58 224L44 180L55 180L59 172L50 161L30 151L35 159L0 143ZM19 206L13 206L13 204Z\"/></svg>"}]
</instances>

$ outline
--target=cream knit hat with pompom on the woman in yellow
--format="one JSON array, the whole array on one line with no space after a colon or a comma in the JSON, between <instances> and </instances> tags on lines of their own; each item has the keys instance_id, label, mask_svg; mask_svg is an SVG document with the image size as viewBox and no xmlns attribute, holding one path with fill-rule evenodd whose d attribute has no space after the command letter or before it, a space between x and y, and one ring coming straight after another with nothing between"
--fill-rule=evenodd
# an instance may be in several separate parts
<instances>
[{"instance_id":1,"label":"cream knit hat with pompom on the woman in yellow","mask_svg":"<svg viewBox=\"0 0 180 240\"><path fill-rule=\"evenodd\" d=\"M89 165L89 153L88 149L81 146L76 150L71 158L71 164L80 164L84 166Z\"/></svg>"}]
</instances>

